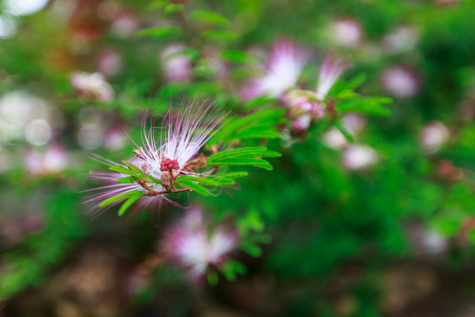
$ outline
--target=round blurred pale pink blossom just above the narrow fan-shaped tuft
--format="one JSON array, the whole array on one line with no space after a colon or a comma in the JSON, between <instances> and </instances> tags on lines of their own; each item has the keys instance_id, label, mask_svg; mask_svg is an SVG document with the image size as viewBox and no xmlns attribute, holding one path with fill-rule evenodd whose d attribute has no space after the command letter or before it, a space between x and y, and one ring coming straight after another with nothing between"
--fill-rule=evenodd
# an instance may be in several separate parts
<instances>
[{"instance_id":1,"label":"round blurred pale pink blossom just above the narrow fan-shaped tuft","mask_svg":"<svg viewBox=\"0 0 475 317\"><path fill-rule=\"evenodd\" d=\"M355 19L337 20L330 25L328 37L337 45L356 46L361 42L361 26Z\"/></svg>"}]
</instances>

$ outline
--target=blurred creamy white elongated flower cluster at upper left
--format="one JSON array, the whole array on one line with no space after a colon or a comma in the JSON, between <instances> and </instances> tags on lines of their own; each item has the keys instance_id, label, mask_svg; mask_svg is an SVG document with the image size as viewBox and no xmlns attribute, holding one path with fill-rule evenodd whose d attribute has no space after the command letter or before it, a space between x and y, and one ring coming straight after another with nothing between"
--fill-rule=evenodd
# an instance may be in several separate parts
<instances>
[{"instance_id":1,"label":"blurred creamy white elongated flower cluster at upper left","mask_svg":"<svg viewBox=\"0 0 475 317\"><path fill-rule=\"evenodd\" d=\"M114 98L114 90L99 72L75 71L72 73L70 81L81 95L90 96L103 102L109 102Z\"/></svg>"}]
</instances>

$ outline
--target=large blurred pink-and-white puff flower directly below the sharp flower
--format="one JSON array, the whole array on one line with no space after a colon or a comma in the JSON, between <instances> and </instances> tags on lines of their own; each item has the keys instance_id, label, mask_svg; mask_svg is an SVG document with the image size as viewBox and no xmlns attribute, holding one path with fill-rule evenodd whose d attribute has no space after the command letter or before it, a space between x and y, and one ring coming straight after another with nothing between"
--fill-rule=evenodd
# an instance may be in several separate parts
<instances>
[{"instance_id":1,"label":"large blurred pink-and-white puff flower directly below the sharp flower","mask_svg":"<svg viewBox=\"0 0 475 317\"><path fill-rule=\"evenodd\" d=\"M192 281L198 281L212 265L220 267L236 249L237 234L222 227L208 230L202 211L191 209L169 231L163 249L166 256L188 271Z\"/></svg>"}]
</instances>

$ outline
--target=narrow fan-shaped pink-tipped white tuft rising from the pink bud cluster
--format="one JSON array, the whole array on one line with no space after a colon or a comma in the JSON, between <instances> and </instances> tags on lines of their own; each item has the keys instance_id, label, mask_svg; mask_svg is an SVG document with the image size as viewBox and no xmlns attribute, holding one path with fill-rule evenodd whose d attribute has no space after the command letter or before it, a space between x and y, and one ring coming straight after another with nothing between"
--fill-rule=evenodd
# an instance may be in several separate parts
<instances>
[{"instance_id":1,"label":"narrow fan-shaped pink-tipped white tuft rising from the pink bud cluster","mask_svg":"<svg viewBox=\"0 0 475 317\"><path fill-rule=\"evenodd\" d=\"M318 99L323 100L343 71L351 67L352 64L344 64L344 60L344 57L333 60L332 53L326 55L321 65L318 83L316 85L316 97Z\"/></svg>"}]
</instances>

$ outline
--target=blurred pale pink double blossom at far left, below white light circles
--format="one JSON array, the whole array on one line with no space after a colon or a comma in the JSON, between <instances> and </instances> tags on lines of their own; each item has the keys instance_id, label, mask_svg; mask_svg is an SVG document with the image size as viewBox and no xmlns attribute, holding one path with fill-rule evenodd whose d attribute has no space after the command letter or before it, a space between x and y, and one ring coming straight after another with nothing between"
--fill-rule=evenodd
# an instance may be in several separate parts
<instances>
[{"instance_id":1,"label":"blurred pale pink double blossom at far left, below white light circles","mask_svg":"<svg viewBox=\"0 0 475 317\"><path fill-rule=\"evenodd\" d=\"M67 167L69 155L62 146L54 144L49 146L44 153L35 150L26 151L24 162L31 174L58 173Z\"/></svg>"}]
</instances>

